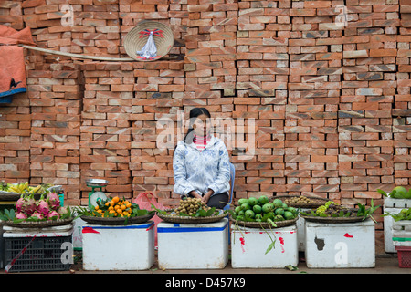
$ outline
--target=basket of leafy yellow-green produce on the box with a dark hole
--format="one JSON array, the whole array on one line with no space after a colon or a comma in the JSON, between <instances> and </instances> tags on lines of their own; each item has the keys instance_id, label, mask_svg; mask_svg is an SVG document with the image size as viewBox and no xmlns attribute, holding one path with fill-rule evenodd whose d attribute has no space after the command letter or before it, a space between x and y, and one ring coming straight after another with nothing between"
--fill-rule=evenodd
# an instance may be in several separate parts
<instances>
[{"instance_id":1,"label":"basket of leafy yellow-green produce on the box with a dark hole","mask_svg":"<svg viewBox=\"0 0 411 292\"><path fill-rule=\"evenodd\" d=\"M363 217L364 219L371 214L374 214L375 210L378 209L380 205L374 207L374 200L371 200L371 207L366 208L364 204L358 203L357 209L347 208L339 203L329 201L324 203L317 209L311 210L311 213L301 212L305 216L317 216L317 217L334 217L334 218L346 218L346 217ZM373 217L371 217L373 218Z\"/></svg>"}]
</instances>

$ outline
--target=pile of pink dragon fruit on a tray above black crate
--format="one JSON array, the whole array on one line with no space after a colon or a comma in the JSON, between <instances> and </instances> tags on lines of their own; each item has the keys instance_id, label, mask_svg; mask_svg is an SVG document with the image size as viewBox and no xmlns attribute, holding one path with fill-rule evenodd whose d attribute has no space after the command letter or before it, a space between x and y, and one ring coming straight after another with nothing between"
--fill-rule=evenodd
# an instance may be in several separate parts
<instances>
[{"instance_id":1,"label":"pile of pink dragon fruit on a tray above black crate","mask_svg":"<svg viewBox=\"0 0 411 292\"><path fill-rule=\"evenodd\" d=\"M34 193L22 194L16 202L16 209L5 210L0 214L0 220L11 220L14 223L30 221L47 221L68 219L71 217L69 207L61 207L57 193L43 193L39 200L34 199Z\"/></svg>"}]
</instances>

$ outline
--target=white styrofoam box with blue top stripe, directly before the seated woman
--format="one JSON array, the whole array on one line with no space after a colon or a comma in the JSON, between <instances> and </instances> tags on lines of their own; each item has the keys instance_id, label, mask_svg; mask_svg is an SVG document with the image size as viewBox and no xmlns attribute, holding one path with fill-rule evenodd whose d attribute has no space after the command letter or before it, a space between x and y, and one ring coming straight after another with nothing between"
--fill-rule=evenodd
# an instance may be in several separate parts
<instances>
[{"instance_id":1,"label":"white styrofoam box with blue top stripe, directly before the seated woman","mask_svg":"<svg viewBox=\"0 0 411 292\"><path fill-rule=\"evenodd\" d=\"M207 224L157 225L162 269L219 269L228 262L228 219Z\"/></svg>"}]
</instances>

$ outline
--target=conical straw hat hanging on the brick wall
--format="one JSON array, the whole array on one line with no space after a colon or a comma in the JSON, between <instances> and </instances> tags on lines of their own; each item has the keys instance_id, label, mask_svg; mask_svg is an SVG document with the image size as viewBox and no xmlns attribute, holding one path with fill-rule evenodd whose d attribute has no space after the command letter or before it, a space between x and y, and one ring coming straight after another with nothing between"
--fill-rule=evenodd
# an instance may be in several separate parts
<instances>
[{"instance_id":1,"label":"conical straw hat hanging on the brick wall","mask_svg":"<svg viewBox=\"0 0 411 292\"><path fill-rule=\"evenodd\" d=\"M157 47L157 56L151 58L141 57L137 54L142 50L142 47L147 43L151 31L156 33L153 35L155 47ZM137 61L154 61L168 54L174 46L173 31L169 26L157 21L143 20L137 24L124 37L124 48L130 57Z\"/></svg>"}]
</instances>

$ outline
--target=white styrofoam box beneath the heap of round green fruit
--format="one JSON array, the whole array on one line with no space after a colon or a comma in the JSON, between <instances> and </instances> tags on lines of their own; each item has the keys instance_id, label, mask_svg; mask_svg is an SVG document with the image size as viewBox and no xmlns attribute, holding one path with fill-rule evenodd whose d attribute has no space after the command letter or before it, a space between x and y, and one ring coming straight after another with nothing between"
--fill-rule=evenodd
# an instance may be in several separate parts
<instances>
[{"instance_id":1,"label":"white styrofoam box beneath the heap of round green fruit","mask_svg":"<svg viewBox=\"0 0 411 292\"><path fill-rule=\"evenodd\" d=\"M275 241L274 248L266 250ZM233 268L284 268L297 266L297 225L273 229L231 226L231 266Z\"/></svg>"}]
</instances>

